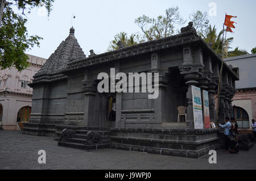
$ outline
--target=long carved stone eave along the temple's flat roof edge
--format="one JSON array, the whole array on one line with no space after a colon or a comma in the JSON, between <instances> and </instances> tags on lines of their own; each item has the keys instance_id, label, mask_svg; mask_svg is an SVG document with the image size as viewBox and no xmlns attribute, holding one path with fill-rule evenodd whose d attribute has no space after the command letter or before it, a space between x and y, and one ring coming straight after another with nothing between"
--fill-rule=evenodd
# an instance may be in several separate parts
<instances>
[{"instance_id":1,"label":"long carved stone eave along the temple's flat roof edge","mask_svg":"<svg viewBox=\"0 0 256 181\"><path fill-rule=\"evenodd\" d=\"M209 47L209 45L198 36L195 31L188 31L184 33L180 33L179 35L165 37L163 39L147 41L141 44L133 45L130 47L125 47L117 50L113 50L111 52L106 52L102 54L98 54L96 56L88 57L86 59L77 60L73 62L69 62L67 66L60 70L61 73L65 74L68 71L73 71L82 68L88 68L97 64L104 64L106 62L111 62L114 60L118 60L121 58L133 57L139 54L145 54L149 52L154 52L157 50L179 47L185 44L197 43L199 42L203 45L204 50L206 50L214 59L220 62L221 64L221 56L214 52L214 50ZM228 69L233 77L238 81L239 78L233 72L233 70L224 62L224 69Z\"/></svg>"}]
</instances>

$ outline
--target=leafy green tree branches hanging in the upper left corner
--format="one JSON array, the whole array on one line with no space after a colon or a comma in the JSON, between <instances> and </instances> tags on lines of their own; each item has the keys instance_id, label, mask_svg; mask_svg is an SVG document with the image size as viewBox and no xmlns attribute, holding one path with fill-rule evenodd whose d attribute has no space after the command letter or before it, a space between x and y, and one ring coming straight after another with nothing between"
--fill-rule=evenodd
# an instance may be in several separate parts
<instances>
[{"instance_id":1,"label":"leafy green tree branches hanging in the upper left corner","mask_svg":"<svg viewBox=\"0 0 256 181\"><path fill-rule=\"evenodd\" d=\"M54 0L9 0L3 9L2 23L0 27L0 68L6 69L14 66L19 71L27 68L28 56L24 53L34 45L39 47L42 37L29 36L25 26L26 14L33 7L46 6L48 13L51 11ZM15 13L13 8L17 7L20 13Z\"/></svg>"}]
</instances>

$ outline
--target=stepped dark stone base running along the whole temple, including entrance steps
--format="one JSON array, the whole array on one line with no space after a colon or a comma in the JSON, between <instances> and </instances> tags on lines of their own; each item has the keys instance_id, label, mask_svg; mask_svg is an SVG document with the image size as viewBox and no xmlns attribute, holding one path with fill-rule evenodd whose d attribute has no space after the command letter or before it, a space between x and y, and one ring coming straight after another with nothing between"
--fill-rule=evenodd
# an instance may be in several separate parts
<instances>
[{"instance_id":1,"label":"stepped dark stone base running along the whole temple, including entrance steps","mask_svg":"<svg viewBox=\"0 0 256 181\"><path fill-rule=\"evenodd\" d=\"M209 150L220 149L219 129L188 129L188 128L89 128L71 125L51 125L44 130L26 127L24 134L35 136L51 136L59 141L63 129L72 129L76 134L68 142L59 142L59 146L82 150L97 150L103 148L139 151L151 154L172 155L187 158L200 158ZM46 124L44 124L45 126ZM37 124L38 126L38 124ZM95 131L101 133L100 145L85 145L86 133ZM51 134L49 134L51 132Z\"/></svg>"}]
</instances>

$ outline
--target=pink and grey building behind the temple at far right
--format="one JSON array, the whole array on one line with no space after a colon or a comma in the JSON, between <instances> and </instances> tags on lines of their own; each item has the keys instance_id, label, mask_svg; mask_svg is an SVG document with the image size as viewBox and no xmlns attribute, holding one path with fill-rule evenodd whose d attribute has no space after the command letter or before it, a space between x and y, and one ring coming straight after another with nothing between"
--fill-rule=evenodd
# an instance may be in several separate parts
<instances>
[{"instance_id":1,"label":"pink and grey building behind the temple at far right","mask_svg":"<svg viewBox=\"0 0 256 181\"><path fill-rule=\"evenodd\" d=\"M225 62L239 68L240 81L232 102L234 118L243 131L251 131L251 120L256 120L256 54L226 58Z\"/></svg>"}]
</instances>

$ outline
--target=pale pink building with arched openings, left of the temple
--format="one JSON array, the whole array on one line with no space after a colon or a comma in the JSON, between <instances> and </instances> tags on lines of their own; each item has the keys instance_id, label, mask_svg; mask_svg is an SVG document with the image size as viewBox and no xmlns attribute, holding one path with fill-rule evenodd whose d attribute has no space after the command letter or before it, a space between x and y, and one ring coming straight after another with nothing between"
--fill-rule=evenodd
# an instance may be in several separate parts
<instances>
[{"instance_id":1,"label":"pale pink building with arched openings, left of the temple","mask_svg":"<svg viewBox=\"0 0 256 181\"><path fill-rule=\"evenodd\" d=\"M0 70L0 127L5 130L19 129L17 123L22 127L30 120L33 90L27 84L46 59L30 54L28 57L31 65L21 72L15 68Z\"/></svg>"}]
</instances>

